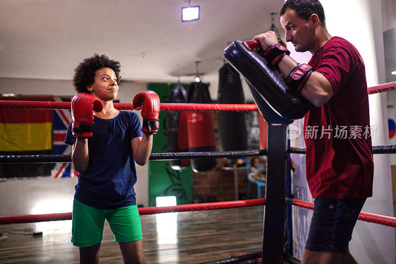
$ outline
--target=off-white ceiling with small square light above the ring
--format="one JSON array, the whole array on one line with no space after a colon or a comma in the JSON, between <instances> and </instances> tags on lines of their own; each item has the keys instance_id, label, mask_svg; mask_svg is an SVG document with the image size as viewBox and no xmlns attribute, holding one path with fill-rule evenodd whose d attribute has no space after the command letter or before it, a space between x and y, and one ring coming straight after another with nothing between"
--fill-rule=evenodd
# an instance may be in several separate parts
<instances>
[{"instance_id":1,"label":"off-white ceiling with small square light above the ring","mask_svg":"<svg viewBox=\"0 0 396 264\"><path fill-rule=\"evenodd\" d=\"M270 28L283 0L0 0L0 77L70 80L94 53L121 62L124 80L217 82L229 42ZM279 32L283 30L275 16ZM191 26L191 29L189 29ZM282 36L283 37L283 36Z\"/></svg>"}]
</instances>

